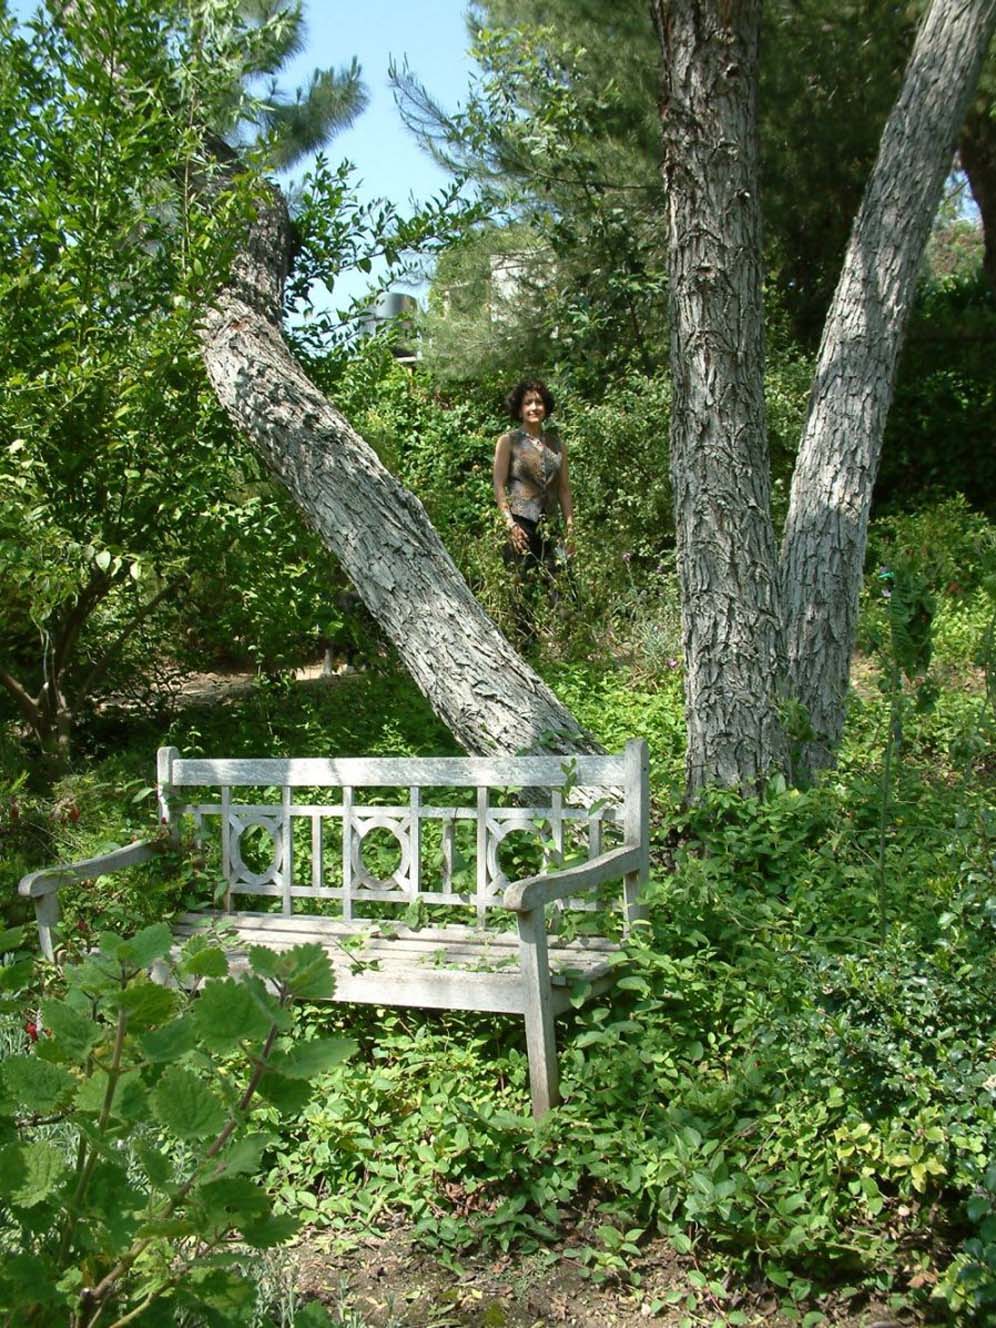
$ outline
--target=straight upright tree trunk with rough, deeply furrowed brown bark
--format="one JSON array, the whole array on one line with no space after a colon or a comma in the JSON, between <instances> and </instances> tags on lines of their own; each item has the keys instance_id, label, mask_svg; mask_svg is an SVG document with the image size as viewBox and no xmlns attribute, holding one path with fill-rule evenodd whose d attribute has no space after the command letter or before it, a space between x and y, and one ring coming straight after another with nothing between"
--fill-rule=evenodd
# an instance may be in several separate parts
<instances>
[{"instance_id":1,"label":"straight upright tree trunk with rough, deeply furrowed brown bark","mask_svg":"<svg viewBox=\"0 0 996 1328\"><path fill-rule=\"evenodd\" d=\"M785 765L757 193L761 3L652 8L663 56L687 786L756 789Z\"/></svg>"}]
</instances>

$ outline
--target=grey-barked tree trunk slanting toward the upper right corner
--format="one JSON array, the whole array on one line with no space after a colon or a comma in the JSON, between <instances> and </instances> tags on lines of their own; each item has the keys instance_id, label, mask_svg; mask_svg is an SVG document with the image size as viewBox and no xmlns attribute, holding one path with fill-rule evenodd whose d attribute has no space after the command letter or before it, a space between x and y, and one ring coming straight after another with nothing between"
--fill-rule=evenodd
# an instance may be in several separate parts
<instances>
[{"instance_id":1,"label":"grey-barked tree trunk slanting toward the upper right corner","mask_svg":"<svg viewBox=\"0 0 996 1328\"><path fill-rule=\"evenodd\" d=\"M916 274L996 0L934 0L854 223L819 348L781 559L789 692L833 761L858 618L871 490Z\"/></svg>"}]
</instances>

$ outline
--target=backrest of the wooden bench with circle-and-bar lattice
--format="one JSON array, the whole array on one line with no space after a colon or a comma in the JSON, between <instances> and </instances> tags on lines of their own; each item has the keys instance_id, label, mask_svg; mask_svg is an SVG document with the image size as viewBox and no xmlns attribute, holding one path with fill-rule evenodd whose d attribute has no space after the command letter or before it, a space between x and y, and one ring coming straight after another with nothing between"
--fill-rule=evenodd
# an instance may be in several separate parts
<instances>
[{"instance_id":1,"label":"backrest of the wooden bench with circle-and-bar lattice","mask_svg":"<svg viewBox=\"0 0 996 1328\"><path fill-rule=\"evenodd\" d=\"M369 915L369 904L424 900L473 907L483 924L510 883L503 845L513 834L542 841L542 862L526 859L517 878L639 842L647 757L643 742L570 760L199 760L162 748L158 782L169 823L193 818L203 843L219 822L226 910L243 895L279 898L284 914L337 900L352 919ZM181 801L187 790L199 798ZM523 790L533 805L521 805ZM393 841L389 870L382 846L365 851L374 831Z\"/></svg>"}]
</instances>

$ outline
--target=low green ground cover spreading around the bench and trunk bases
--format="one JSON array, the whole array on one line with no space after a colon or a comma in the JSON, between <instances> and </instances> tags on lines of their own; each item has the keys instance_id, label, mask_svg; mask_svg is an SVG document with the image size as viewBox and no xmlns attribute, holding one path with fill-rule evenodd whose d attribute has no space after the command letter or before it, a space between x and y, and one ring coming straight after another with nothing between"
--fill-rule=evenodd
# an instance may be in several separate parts
<instances>
[{"instance_id":1,"label":"low green ground cover spreading around the bench and trunk bases","mask_svg":"<svg viewBox=\"0 0 996 1328\"><path fill-rule=\"evenodd\" d=\"M907 595L896 616L896 568L955 527L956 572L923 558L935 567L932 656L900 659L894 629L908 635L926 600ZM785 1321L810 1328L870 1299L906 1321L987 1323L989 533L954 509L879 527L847 744L838 772L807 790L776 782L761 798L713 791L683 809L680 668L653 681L636 661L624 672L584 652L547 659L551 684L606 745L647 734L659 818L649 919L627 973L559 1037L564 1102L539 1126L529 1118L517 1020L308 1004L311 1033L360 1050L299 1113L259 1105L278 1211L344 1246L402 1215L454 1267L482 1244L556 1251L595 1282L639 1279L645 1242L664 1238L691 1279L676 1305L648 1301L665 1321L680 1311L689 1324L750 1323L744 1287L760 1276ZM122 722L118 750L94 748L56 799L23 780L8 793L21 866L146 826L161 740L215 754L449 749L388 660L311 689L264 683L191 706L166 734ZM153 923L197 888L165 863L134 886L81 890L66 900L68 943Z\"/></svg>"}]
</instances>

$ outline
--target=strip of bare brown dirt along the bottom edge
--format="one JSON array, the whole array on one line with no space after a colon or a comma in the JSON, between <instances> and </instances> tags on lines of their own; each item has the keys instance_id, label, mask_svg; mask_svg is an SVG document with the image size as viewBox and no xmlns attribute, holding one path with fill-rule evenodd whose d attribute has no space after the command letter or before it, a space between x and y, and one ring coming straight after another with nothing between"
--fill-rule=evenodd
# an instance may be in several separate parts
<instances>
[{"instance_id":1,"label":"strip of bare brown dirt along the bottom edge","mask_svg":"<svg viewBox=\"0 0 996 1328\"><path fill-rule=\"evenodd\" d=\"M768 1287L717 1296L696 1291L697 1270L663 1242L652 1242L633 1266L639 1286L596 1284L576 1260L542 1256L461 1255L444 1266L418 1248L402 1228L369 1238L345 1254L327 1240L295 1251L295 1280L303 1299L317 1299L369 1328L720 1328L729 1324L789 1328L818 1309L830 1328L912 1328L924 1320L854 1301L806 1304L785 1313ZM740 1313L736 1313L736 1312ZM730 1320L730 1313L736 1317ZM741 1319L740 1315L745 1317Z\"/></svg>"}]
</instances>

